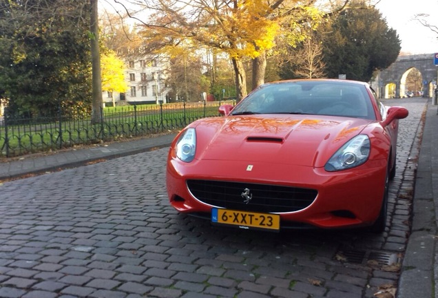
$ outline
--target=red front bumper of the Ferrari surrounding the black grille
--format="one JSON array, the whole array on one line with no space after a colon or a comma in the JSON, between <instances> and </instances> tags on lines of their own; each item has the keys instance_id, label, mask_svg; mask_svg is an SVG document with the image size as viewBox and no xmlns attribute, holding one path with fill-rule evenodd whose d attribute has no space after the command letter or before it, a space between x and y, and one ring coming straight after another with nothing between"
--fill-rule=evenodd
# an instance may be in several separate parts
<instances>
[{"instance_id":1,"label":"red front bumper of the Ferrari surrounding the black grille","mask_svg":"<svg viewBox=\"0 0 438 298\"><path fill-rule=\"evenodd\" d=\"M184 163L170 157L167 192L171 206L179 212L209 215L211 208L224 207L196 198L187 187L187 181L225 181L242 187L255 183L316 190L317 195L308 206L291 212L272 212L280 215L282 227L300 223L318 228L353 228L369 226L377 219L384 197L386 165L384 160L367 161L350 170L326 172L324 168L261 161L251 164L213 160ZM243 190L238 190L237 197Z\"/></svg>"}]
</instances>

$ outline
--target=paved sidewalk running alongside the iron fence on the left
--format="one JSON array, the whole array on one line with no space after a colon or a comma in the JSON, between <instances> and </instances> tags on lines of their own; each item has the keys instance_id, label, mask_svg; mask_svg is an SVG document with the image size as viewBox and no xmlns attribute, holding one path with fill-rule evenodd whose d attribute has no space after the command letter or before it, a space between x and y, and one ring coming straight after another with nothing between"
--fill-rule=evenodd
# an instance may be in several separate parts
<instances>
[{"instance_id":1,"label":"paved sidewalk running alongside the iron fence on the left","mask_svg":"<svg viewBox=\"0 0 438 298\"><path fill-rule=\"evenodd\" d=\"M18 160L0 163L0 181L14 179L23 175L74 168L100 159L113 159L167 147L170 146L175 136L176 133L171 133L169 135L159 135L158 137L145 137L144 139L136 139L134 141L71 148L61 152L38 155L37 157L24 156Z\"/></svg>"}]
</instances>

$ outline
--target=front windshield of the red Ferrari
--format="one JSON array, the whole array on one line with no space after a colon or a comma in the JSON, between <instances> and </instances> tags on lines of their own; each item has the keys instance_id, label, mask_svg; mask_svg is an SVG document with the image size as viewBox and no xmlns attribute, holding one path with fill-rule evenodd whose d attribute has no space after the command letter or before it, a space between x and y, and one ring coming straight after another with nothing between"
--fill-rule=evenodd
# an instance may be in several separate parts
<instances>
[{"instance_id":1,"label":"front windshield of the red Ferrari","mask_svg":"<svg viewBox=\"0 0 438 298\"><path fill-rule=\"evenodd\" d=\"M348 81L284 81L260 86L231 115L302 114L375 119L366 88Z\"/></svg>"}]
</instances>

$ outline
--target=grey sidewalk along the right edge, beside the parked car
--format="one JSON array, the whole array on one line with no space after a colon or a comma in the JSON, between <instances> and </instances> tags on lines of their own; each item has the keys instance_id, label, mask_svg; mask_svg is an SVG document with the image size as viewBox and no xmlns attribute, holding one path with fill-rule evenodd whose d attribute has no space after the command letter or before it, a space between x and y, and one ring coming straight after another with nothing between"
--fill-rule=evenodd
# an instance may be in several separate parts
<instances>
[{"instance_id":1,"label":"grey sidewalk along the right edge, beside the parked car","mask_svg":"<svg viewBox=\"0 0 438 298\"><path fill-rule=\"evenodd\" d=\"M397 298L438 297L438 115L428 103L415 177L413 224Z\"/></svg>"}]
</instances>

